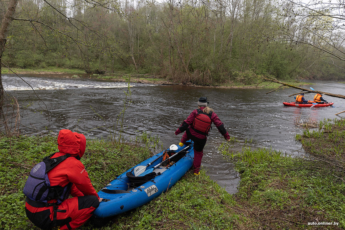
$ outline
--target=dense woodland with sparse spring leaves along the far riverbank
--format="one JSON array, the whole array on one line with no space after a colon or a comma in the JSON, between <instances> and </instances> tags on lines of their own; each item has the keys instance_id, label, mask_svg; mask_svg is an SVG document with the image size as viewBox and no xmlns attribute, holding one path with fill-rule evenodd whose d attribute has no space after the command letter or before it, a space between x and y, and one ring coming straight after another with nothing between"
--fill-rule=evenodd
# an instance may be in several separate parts
<instances>
[{"instance_id":1,"label":"dense woodland with sparse spring leaves along the far riverbank","mask_svg":"<svg viewBox=\"0 0 345 230\"><path fill-rule=\"evenodd\" d=\"M98 7L22 0L15 18L26 20L13 20L2 58L10 67L126 69L197 84L233 82L236 71L249 69L278 79L344 79L338 68L344 61L326 57L313 44L285 39L288 31L313 42L318 30L301 29L288 7L293 6L263 0L126 0Z\"/></svg>"}]
</instances>

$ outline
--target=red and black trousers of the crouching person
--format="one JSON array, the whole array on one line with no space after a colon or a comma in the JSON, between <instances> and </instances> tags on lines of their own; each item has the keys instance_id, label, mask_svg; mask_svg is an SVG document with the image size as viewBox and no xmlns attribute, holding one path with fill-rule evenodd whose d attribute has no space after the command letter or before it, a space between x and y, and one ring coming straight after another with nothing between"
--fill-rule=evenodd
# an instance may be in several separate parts
<instances>
[{"instance_id":1,"label":"red and black trousers of the crouching person","mask_svg":"<svg viewBox=\"0 0 345 230\"><path fill-rule=\"evenodd\" d=\"M25 211L29 220L41 229L60 226L61 230L73 230L85 223L98 206L96 196L82 196L64 200L56 211L52 206L37 208L28 203L25 204Z\"/></svg>"}]
</instances>

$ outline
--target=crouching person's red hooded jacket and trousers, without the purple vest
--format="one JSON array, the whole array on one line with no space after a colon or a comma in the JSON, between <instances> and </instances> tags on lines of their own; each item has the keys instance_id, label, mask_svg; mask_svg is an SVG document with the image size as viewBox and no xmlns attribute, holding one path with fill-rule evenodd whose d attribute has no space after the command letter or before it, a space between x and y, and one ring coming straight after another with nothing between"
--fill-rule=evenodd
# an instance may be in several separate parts
<instances>
[{"instance_id":1,"label":"crouching person's red hooded jacket and trousers, without the purple vest","mask_svg":"<svg viewBox=\"0 0 345 230\"><path fill-rule=\"evenodd\" d=\"M26 199L25 212L29 220L41 229L76 229L85 223L102 201L93 188L84 165L80 162L86 148L83 134L68 129L60 130L58 149L50 159L70 154L56 167L48 171L51 186L62 187L61 200L46 203ZM60 188L59 187L59 188ZM72 198L68 198L71 195Z\"/></svg>"}]
</instances>

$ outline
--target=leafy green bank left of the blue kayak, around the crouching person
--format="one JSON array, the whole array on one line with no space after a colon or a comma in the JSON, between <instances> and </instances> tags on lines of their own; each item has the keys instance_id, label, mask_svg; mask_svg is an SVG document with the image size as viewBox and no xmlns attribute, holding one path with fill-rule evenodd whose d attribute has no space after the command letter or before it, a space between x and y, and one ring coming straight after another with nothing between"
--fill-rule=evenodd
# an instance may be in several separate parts
<instances>
[{"instance_id":1,"label":"leafy green bank left of the blue kayak, around the crouching person","mask_svg":"<svg viewBox=\"0 0 345 230\"><path fill-rule=\"evenodd\" d=\"M139 142L125 147L104 140L87 140L81 162L88 170L96 191L108 182L152 155ZM0 139L0 228L32 229L24 211L24 183L31 168L43 157L56 152L56 137L2 137Z\"/></svg>"}]
</instances>

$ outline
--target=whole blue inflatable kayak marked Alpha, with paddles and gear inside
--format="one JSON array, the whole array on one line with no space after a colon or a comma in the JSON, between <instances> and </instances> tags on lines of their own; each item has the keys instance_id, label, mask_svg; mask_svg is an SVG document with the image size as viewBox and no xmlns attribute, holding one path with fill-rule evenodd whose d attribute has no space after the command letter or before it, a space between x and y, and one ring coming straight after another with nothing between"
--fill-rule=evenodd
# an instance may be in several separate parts
<instances>
[{"instance_id":1,"label":"whole blue inflatable kayak marked Alpha, with paddles and gear inside","mask_svg":"<svg viewBox=\"0 0 345 230\"><path fill-rule=\"evenodd\" d=\"M158 197L171 188L193 165L194 143L187 142L183 147L169 149L168 161L163 161L165 150L122 173L107 187L98 192L106 199L99 204L93 214L105 218L129 211ZM171 147L170 147L171 148ZM163 161L163 163L162 163Z\"/></svg>"}]
</instances>

